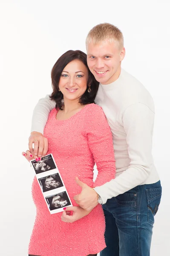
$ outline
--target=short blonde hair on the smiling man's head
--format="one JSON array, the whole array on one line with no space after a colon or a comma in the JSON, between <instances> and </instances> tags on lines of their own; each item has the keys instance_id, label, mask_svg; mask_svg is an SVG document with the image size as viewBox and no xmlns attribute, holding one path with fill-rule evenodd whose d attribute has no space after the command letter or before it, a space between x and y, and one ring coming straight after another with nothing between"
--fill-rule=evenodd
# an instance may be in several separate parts
<instances>
[{"instance_id":1,"label":"short blonde hair on the smiling man's head","mask_svg":"<svg viewBox=\"0 0 170 256\"><path fill-rule=\"evenodd\" d=\"M121 30L110 23L101 23L90 30L86 37L86 48L91 42L98 44L105 40L109 40L110 43L118 42L120 49L124 47L124 37Z\"/></svg>"}]
</instances>

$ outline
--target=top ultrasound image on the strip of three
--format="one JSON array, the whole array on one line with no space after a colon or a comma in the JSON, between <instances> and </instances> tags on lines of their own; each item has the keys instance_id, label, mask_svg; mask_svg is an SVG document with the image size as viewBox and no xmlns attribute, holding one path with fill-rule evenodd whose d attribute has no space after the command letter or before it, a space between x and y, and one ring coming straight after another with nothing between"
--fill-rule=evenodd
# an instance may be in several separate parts
<instances>
[{"instance_id":1,"label":"top ultrasound image on the strip of three","mask_svg":"<svg viewBox=\"0 0 170 256\"><path fill-rule=\"evenodd\" d=\"M36 174L47 172L56 168L52 154L42 157L41 160L38 162L36 160L32 160L31 163Z\"/></svg>"}]
</instances>

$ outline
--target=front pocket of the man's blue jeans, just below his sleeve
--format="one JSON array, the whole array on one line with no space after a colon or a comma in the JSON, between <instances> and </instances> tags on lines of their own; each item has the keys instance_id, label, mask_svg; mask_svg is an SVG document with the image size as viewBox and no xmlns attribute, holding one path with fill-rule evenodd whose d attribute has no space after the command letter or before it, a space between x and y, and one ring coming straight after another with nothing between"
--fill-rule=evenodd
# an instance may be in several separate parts
<instances>
[{"instance_id":1,"label":"front pocket of the man's blue jeans, just below his sleeve","mask_svg":"<svg viewBox=\"0 0 170 256\"><path fill-rule=\"evenodd\" d=\"M115 197L115 201L122 206L136 206L136 193L124 193Z\"/></svg>"}]
</instances>

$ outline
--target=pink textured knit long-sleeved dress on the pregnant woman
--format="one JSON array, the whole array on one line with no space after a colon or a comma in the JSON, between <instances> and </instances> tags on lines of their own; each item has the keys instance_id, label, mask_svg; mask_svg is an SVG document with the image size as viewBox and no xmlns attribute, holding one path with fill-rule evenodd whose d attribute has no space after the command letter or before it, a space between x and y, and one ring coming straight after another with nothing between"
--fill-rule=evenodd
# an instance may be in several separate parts
<instances>
[{"instance_id":1,"label":"pink textured knit long-sleeved dress on the pregnant woman","mask_svg":"<svg viewBox=\"0 0 170 256\"><path fill-rule=\"evenodd\" d=\"M98 105L84 106L66 120L56 119L54 108L44 128L53 154L73 206L73 197L81 192L75 182L78 176L91 187L100 186L115 177L115 159L112 134L106 117ZM96 163L98 177L93 183ZM32 196L37 215L29 243L29 254L40 256L86 256L106 247L105 220L100 204L89 215L74 223L61 221L60 213L50 214L36 177Z\"/></svg>"}]
</instances>

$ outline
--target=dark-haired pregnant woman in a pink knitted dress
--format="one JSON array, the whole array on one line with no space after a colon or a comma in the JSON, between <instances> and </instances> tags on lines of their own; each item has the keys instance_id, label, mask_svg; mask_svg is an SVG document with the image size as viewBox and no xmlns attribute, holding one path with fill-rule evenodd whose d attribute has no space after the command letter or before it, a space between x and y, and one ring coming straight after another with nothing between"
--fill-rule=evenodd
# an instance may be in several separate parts
<instances>
[{"instance_id":1,"label":"dark-haired pregnant woman in a pink knitted dress","mask_svg":"<svg viewBox=\"0 0 170 256\"><path fill-rule=\"evenodd\" d=\"M87 212L75 203L74 195L81 192L75 177L91 187L100 186L114 178L115 160L109 125L101 107L94 104L98 82L89 71L84 52L70 50L58 59L52 68L52 87L56 108L44 129L49 140L47 154L53 154L73 206L81 209L80 219L66 223L62 221L63 213L51 215L34 178L32 195L37 216L29 254L97 255L106 247L104 213L100 204ZM24 154L27 160L32 159L29 151ZM93 183L95 163L98 177Z\"/></svg>"}]
</instances>

